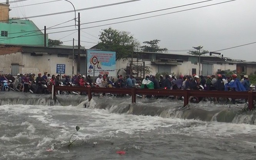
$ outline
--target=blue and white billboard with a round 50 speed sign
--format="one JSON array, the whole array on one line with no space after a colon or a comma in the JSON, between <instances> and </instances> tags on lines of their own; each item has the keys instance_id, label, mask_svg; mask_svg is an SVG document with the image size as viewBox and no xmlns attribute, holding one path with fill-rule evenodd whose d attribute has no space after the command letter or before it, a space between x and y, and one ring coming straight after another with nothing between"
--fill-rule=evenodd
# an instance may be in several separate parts
<instances>
[{"instance_id":1,"label":"blue and white billboard with a round 50 speed sign","mask_svg":"<svg viewBox=\"0 0 256 160\"><path fill-rule=\"evenodd\" d=\"M95 76L116 76L116 52L87 50L86 55L87 75L93 76L94 70Z\"/></svg>"}]
</instances>

